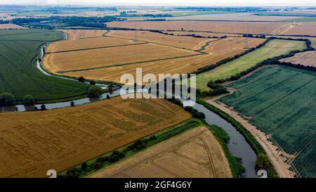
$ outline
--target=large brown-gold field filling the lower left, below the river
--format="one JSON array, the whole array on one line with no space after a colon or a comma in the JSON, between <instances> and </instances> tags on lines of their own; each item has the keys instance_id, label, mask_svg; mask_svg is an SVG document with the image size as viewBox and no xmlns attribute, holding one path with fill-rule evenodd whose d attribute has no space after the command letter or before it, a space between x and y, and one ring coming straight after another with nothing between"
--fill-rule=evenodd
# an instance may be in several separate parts
<instances>
[{"instance_id":1,"label":"large brown-gold field filling the lower left, below the river","mask_svg":"<svg viewBox=\"0 0 316 192\"><path fill-rule=\"evenodd\" d=\"M0 114L0 177L46 177L189 119L163 99L121 97L58 110Z\"/></svg>"}]
</instances>

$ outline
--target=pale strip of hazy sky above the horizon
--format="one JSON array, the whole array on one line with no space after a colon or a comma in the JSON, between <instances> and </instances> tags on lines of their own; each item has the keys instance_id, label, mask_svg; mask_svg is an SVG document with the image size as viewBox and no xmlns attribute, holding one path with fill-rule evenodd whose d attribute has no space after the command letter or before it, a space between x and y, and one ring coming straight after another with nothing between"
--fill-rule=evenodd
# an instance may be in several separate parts
<instances>
[{"instance_id":1,"label":"pale strip of hazy sky above the horizon","mask_svg":"<svg viewBox=\"0 0 316 192\"><path fill-rule=\"evenodd\" d=\"M316 6L316 0L0 0L0 4L80 6Z\"/></svg>"}]
</instances>

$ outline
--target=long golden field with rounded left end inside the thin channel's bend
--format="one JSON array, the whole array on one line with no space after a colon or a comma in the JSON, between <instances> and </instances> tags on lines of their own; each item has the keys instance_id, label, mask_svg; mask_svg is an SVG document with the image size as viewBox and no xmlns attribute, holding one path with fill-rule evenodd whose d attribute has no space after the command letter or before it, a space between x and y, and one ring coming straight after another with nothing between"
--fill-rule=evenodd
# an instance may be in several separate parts
<instances>
[{"instance_id":1,"label":"long golden field with rounded left end inside the thin channel's bend","mask_svg":"<svg viewBox=\"0 0 316 192\"><path fill-rule=\"evenodd\" d=\"M195 51L178 49L158 44L138 44L129 46L72 51L47 54L43 66L51 72L104 68L111 65L126 65L151 60L162 60L197 55Z\"/></svg>"}]
</instances>

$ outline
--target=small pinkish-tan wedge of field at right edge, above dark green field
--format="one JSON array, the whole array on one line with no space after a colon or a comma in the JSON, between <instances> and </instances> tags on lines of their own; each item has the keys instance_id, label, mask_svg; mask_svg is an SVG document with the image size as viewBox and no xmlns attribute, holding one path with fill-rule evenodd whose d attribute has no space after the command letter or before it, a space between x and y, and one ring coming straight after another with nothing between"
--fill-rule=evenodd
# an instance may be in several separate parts
<instances>
[{"instance_id":1,"label":"small pinkish-tan wedge of field at right edge, above dark green field","mask_svg":"<svg viewBox=\"0 0 316 192\"><path fill-rule=\"evenodd\" d=\"M297 53L295 56L291 58L284 58L280 61L316 67L316 51Z\"/></svg>"}]
</instances>

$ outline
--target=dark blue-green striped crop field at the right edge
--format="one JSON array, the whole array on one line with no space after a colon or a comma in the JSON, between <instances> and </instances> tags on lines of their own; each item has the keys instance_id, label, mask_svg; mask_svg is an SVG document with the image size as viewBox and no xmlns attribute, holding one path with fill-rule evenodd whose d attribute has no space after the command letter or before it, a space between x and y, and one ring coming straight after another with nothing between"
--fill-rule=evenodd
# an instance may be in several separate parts
<instances>
[{"instance_id":1,"label":"dark blue-green striped crop field at the right edge","mask_svg":"<svg viewBox=\"0 0 316 192\"><path fill-rule=\"evenodd\" d=\"M301 177L316 177L316 72L267 66L228 85L232 106L289 154Z\"/></svg>"}]
</instances>

